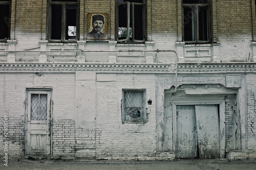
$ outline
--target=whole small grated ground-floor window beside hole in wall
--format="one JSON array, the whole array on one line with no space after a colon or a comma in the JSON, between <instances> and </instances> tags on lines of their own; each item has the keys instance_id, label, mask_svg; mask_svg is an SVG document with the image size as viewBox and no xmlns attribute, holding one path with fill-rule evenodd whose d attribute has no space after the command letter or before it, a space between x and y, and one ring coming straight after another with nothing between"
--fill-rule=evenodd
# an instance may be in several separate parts
<instances>
[{"instance_id":1,"label":"whole small grated ground-floor window beside hole in wall","mask_svg":"<svg viewBox=\"0 0 256 170\"><path fill-rule=\"evenodd\" d=\"M123 123L145 123L145 91L123 90Z\"/></svg>"}]
</instances>

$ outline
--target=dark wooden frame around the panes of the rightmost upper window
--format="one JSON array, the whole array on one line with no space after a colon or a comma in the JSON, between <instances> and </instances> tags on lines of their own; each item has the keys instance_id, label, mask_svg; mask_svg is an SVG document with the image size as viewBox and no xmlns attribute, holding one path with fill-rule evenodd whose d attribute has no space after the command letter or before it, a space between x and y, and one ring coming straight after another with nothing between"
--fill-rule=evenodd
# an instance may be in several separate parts
<instances>
[{"instance_id":1,"label":"dark wooden frame around the panes of the rightmost upper window","mask_svg":"<svg viewBox=\"0 0 256 170\"><path fill-rule=\"evenodd\" d=\"M182 40L185 43L209 43L211 42L212 39L212 19L211 19L211 1L210 0L204 0L205 3L200 3L203 1L198 1L198 3L183 3L182 1ZM200 12L200 8L205 7L207 9L207 17L206 17L206 26L205 26L205 31L206 33L206 40L200 40L200 21L199 21L199 12ZM191 19L193 20L191 25L192 25L192 40L185 40L185 16L184 16L184 8L191 8L191 11L194 11L194 13L192 13L191 15Z\"/></svg>"}]
</instances>

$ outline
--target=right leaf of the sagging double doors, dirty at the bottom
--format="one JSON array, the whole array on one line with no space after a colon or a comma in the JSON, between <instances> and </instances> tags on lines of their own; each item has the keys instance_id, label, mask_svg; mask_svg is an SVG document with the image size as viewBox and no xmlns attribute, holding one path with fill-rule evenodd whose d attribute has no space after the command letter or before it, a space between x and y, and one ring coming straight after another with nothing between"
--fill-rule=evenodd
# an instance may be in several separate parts
<instances>
[{"instance_id":1,"label":"right leaf of the sagging double doors, dirty at the bottom","mask_svg":"<svg viewBox=\"0 0 256 170\"><path fill-rule=\"evenodd\" d=\"M202 159L220 158L219 113L216 105L195 106L199 157Z\"/></svg>"}]
</instances>

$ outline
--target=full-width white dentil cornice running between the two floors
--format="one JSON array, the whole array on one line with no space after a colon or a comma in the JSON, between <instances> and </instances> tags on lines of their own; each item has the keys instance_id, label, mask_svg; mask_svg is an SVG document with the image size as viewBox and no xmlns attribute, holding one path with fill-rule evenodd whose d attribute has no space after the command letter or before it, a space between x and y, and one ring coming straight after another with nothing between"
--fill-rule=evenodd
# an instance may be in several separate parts
<instances>
[{"instance_id":1,"label":"full-width white dentil cornice running between the two floors","mask_svg":"<svg viewBox=\"0 0 256 170\"><path fill-rule=\"evenodd\" d=\"M256 73L256 63L79 63L2 62L0 72L133 72L156 74Z\"/></svg>"}]
</instances>

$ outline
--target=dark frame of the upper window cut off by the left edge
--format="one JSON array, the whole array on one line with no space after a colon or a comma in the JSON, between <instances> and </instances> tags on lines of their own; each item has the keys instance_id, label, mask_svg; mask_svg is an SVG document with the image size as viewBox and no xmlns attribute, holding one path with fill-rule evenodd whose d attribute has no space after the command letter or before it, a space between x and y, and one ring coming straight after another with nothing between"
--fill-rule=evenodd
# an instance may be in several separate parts
<instances>
[{"instance_id":1,"label":"dark frame of the upper window cut off by the left edge","mask_svg":"<svg viewBox=\"0 0 256 170\"><path fill-rule=\"evenodd\" d=\"M0 27L6 27L6 25L7 25L7 28L5 28L5 29L8 29L8 32L7 33L5 33L5 37L3 38L1 38L0 37L0 42L2 41L6 41L6 40L8 40L8 39L10 39L10 28L11 28L11 0L5 0L5 1L0 1L0 6L5 6L5 5L9 5L9 11L8 11L8 17L7 16L0 16L0 18L2 19L4 19L4 24L1 24L1 22L0 22Z\"/></svg>"}]
</instances>

